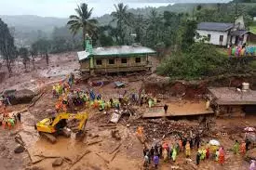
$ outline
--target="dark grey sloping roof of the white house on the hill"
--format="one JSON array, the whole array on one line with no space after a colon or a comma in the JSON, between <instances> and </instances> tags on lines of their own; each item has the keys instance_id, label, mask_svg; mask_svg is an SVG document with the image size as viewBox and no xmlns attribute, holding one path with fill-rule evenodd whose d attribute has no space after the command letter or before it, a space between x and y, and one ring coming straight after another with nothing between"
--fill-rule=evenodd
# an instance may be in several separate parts
<instances>
[{"instance_id":1,"label":"dark grey sloping roof of the white house on the hill","mask_svg":"<svg viewBox=\"0 0 256 170\"><path fill-rule=\"evenodd\" d=\"M222 22L201 22L197 24L197 30L208 30L225 32L234 27L234 23L222 23Z\"/></svg>"}]
</instances>

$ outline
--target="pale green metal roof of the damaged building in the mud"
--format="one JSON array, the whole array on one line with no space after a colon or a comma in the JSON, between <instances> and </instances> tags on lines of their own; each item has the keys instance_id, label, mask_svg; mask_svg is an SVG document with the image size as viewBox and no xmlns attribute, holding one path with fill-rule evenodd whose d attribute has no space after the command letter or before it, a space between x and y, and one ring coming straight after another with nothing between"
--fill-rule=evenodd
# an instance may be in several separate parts
<instances>
[{"instance_id":1,"label":"pale green metal roof of the damaged building in the mud","mask_svg":"<svg viewBox=\"0 0 256 170\"><path fill-rule=\"evenodd\" d=\"M155 54L155 50L145 46L109 46L92 49L92 56L126 56L132 54ZM86 51L77 52L78 59L88 59L89 53Z\"/></svg>"}]
</instances>

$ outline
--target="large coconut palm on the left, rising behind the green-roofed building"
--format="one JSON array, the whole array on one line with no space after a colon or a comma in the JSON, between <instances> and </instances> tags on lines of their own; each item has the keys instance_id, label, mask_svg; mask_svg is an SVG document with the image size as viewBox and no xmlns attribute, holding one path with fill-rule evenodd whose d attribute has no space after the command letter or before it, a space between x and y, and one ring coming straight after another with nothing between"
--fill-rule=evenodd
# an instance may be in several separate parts
<instances>
[{"instance_id":1,"label":"large coconut palm on the left, rising behind the green-roofed building","mask_svg":"<svg viewBox=\"0 0 256 170\"><path fill-rule=\"evenodd\" d=\"M97 34L98 20L90 19L93 8L88 8L86 3L82 3L80 6L74 9L77 15L71 15L69 17L68 25L72 33L76 34L82 29L83 32L83 47L86 48L86 34L94 36Z\"/></svg>"}]
</instances>

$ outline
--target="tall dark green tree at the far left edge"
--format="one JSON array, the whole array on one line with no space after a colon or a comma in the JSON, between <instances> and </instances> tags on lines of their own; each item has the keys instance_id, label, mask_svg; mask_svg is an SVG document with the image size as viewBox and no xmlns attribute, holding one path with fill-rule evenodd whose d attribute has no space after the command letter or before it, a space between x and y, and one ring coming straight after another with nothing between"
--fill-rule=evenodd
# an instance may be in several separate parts
<instances>
[{"instance_id":1,"label":"tall dark green tree at the far left edge","mask_svg":"<svg viewBox=\"0 0 256 170\"><path fill-rule=\"evenodd\" d=\"M14 39L11 36L7 24L0 19L0 53L6 61L7 70L11 72L11 63L17 57L17 49L14 46Z\"/></svg>"}]
</instances>

